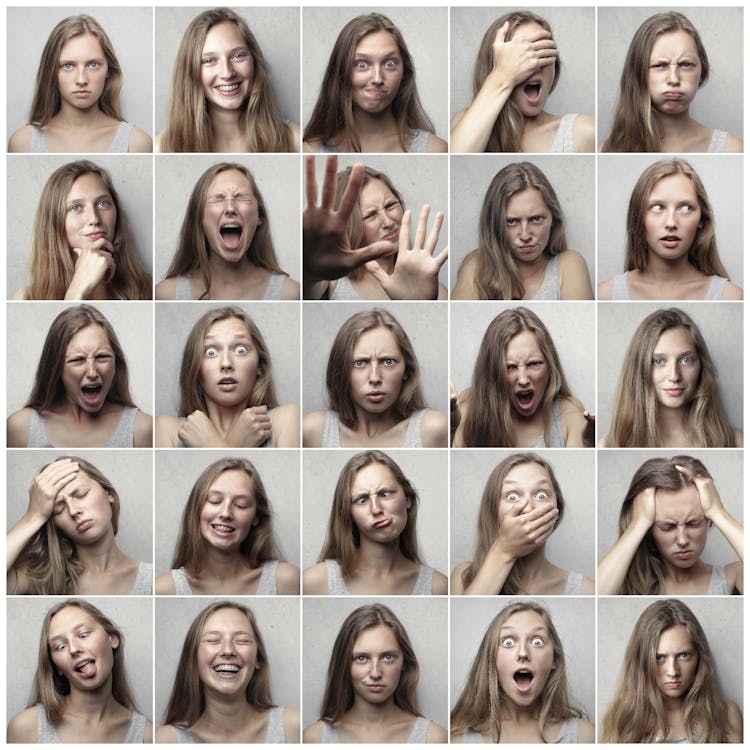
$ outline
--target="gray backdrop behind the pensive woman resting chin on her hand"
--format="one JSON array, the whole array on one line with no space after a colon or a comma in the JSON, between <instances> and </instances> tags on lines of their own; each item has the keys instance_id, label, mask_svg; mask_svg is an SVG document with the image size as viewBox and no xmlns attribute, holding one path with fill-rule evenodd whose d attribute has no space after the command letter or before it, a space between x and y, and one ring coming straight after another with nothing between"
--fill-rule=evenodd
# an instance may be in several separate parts
<instances>
[{"instance_id":1,"label":"gray backdrop behind the pensive woman resting chin on her hand","mask_svg":"<svg viewBox=\"0 0 750 750\"><path fill-rule=\"evenodd\" d=\"M29 283L34 218L44 185L58 167L72 161L75 161L75 158L71 155L47 156L46 154L14 155L6 160L8 180L6 288L9 298L17 289ZM90 161L109 172L119 198L120 213L127 217L138 257L146 271L152 273L151 156L133 154L123 159L120 156L96 154L91 157Z\"/></svg>"}]
</instances>

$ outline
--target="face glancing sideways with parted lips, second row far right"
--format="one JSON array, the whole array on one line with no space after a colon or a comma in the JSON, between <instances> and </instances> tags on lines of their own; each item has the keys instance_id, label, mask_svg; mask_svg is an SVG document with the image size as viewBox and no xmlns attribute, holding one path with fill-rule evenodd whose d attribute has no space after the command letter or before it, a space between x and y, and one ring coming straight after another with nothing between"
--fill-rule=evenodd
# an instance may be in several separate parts
<instances>
[{"instance_id":1,"label":"face glancing sideways with parted lips, second row far right","mask_svg":"<svg viewBox=\"0 0 750 750\"><path fill-rule=\"evenodd\" d=\"M654 185L643 217L651 253L667 262L685 257L695 242L700 223L698 195L687 175L669 175Z\"/></svg>"}]
</instances>

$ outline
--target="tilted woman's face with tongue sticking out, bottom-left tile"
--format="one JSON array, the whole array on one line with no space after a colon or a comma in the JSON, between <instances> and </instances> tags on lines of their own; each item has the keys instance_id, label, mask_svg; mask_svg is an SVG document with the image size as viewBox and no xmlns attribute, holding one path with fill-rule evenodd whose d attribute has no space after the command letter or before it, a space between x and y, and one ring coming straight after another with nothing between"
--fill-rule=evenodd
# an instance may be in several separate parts
<instances>
[{"instance_id":1,"label":"tilted woman's face with tongue sticking out, bottom-left tile","mask_svg":"<svg viewBox=\"0 0 750 750\"><path fill-rule=\"evenodd\" d=\"M120 641L80 607L64 607L49 621L47 644L55 671L71 688L93 691L107 685Z\"/></svg>"}]
</instances>

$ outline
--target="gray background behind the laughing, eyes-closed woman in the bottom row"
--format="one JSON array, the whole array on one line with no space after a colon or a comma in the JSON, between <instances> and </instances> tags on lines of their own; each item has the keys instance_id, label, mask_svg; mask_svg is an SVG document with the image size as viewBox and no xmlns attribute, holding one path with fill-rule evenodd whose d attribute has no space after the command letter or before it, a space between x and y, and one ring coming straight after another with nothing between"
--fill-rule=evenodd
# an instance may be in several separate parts
<instances>
[{"instance_id":1,"label":"gray background behind the laughing, eyes-closed woman in the bottom row","mask_svg":"<svg viewBox=\"0 0 750 750\"><path fill-rule=\"evenodd\" d=\"M190 624L217 597L170 597L156 600L156 711L163 723L174 685L177 662ZM299 706L299 602L291 597L241 597L231 601L249 607L263 636L271 668L271 698L278 706ZM150 621L149 621L150 624ZM149 672L149 685L151 673ZM293 740L287 740L293 741Z\"/></svg>"}]
</instances>

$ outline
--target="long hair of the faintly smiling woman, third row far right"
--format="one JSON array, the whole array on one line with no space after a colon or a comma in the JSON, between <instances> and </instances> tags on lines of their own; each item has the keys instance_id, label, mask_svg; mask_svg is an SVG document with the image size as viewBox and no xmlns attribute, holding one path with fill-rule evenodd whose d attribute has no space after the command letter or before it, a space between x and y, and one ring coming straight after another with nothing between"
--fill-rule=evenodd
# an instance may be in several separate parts
<instances>
[{"instance_id":1,"label":"long hair of the faintly smiling woman, third row far right","mask_svg":"<svg viewBox=\"0 0 750 750\"><path fill-rule=\"evenodd\" d=\"M670 328L686 328L701 363L695 393L687 405L687 433L695 448L734 448L734 430L719 396L716 368L693 319L677 307L657 310L633 334L617 384L612 422L605 442L612 448L658 448L661 434L656 394L651 384L652 357L659 337Z\"/></svg>"}]
</instances>

